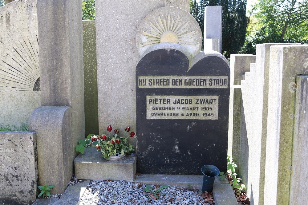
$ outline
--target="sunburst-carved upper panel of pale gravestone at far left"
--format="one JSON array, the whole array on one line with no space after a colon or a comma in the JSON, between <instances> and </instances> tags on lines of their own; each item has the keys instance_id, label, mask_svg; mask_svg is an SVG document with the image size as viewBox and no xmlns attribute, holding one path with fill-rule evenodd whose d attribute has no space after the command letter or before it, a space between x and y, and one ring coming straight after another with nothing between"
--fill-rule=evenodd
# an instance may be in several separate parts
<instances>
[{"instance_id":1,"label":"sunburst-carved upper panel of pale gravestone at far left","mask_svg":"<svg viewBox=\"0 0 308 205\"><path fill-rule=\"evenodd\" d=\"M0 8L0 90L39 91L36 1Z\"/></svg>"}]
</instances>

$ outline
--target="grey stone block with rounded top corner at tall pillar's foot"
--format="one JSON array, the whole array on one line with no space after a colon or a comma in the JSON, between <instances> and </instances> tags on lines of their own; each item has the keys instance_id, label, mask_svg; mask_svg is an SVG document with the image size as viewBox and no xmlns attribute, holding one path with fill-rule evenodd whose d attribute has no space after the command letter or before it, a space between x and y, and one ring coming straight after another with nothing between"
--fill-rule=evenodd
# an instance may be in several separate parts
<instances>
[{"instance_id":1,"label":"grey stone block with rounded top corner at tall pillar's foot","mask_svg":"<svg viewBox=\"0 0 308 205\"><path fill-rule=\"evenodd\" d=\"M39 185L54 185L51 193L62 194L73 175L71 107L35 109L29 130L36 132Z\"/></svg>"}]
</instances>

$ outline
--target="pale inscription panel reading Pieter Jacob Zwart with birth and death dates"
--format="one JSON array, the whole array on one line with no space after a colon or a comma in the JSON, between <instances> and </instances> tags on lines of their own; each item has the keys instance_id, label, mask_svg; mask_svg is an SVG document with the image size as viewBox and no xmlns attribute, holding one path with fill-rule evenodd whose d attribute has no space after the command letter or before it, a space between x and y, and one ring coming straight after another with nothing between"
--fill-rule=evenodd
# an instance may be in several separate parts
<instances>
[{"instance_id":1,"label":"pale inscription panel reading Pieter Jacob Zwart with birth and death dates","mask_svg":"<svg viewBox=\"0 0 308 205\"><path fill-rule=\"evenodd\" d=\"M218 96L147 96L147 119L218 120Z\"/></svg>"}]
</instances>

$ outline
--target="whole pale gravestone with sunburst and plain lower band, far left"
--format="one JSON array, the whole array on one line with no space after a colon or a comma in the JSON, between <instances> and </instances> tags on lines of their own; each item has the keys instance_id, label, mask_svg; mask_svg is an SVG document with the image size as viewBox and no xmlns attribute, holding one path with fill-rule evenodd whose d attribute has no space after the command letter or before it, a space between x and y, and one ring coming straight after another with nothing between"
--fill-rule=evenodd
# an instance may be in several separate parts
<instances>
[{"instance_id":1,"label":"whole pale gravestone with sunburst and plain lower band, far left","mask_svg":"<svg viewBox=\"0 0 308 205\"><path fill-rule=\"evenodd\" d=\"M41 105L36 0L0 8L0 124L28 124Z\"/></svg>"}]
</instances>

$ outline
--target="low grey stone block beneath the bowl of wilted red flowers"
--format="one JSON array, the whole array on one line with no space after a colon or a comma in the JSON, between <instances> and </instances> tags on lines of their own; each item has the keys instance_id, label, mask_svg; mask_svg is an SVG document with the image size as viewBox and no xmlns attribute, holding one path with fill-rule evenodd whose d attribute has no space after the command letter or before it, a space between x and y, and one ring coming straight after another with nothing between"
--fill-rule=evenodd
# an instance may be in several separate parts
<instances>
[{"instance_id":1,"label":"low grey stone block beneath the bowl of wilted red flowers","mask_svg":"<svg viewBox=\"0 0 308 205\"><path fill-rule=\"evenodd\" d=\"M84 150L75 160L75 177L93 180L126 180L133 181L136 174L136 158L126 156L124 160L105 160L95 147Z\"/></svg>"}]
</instances>

